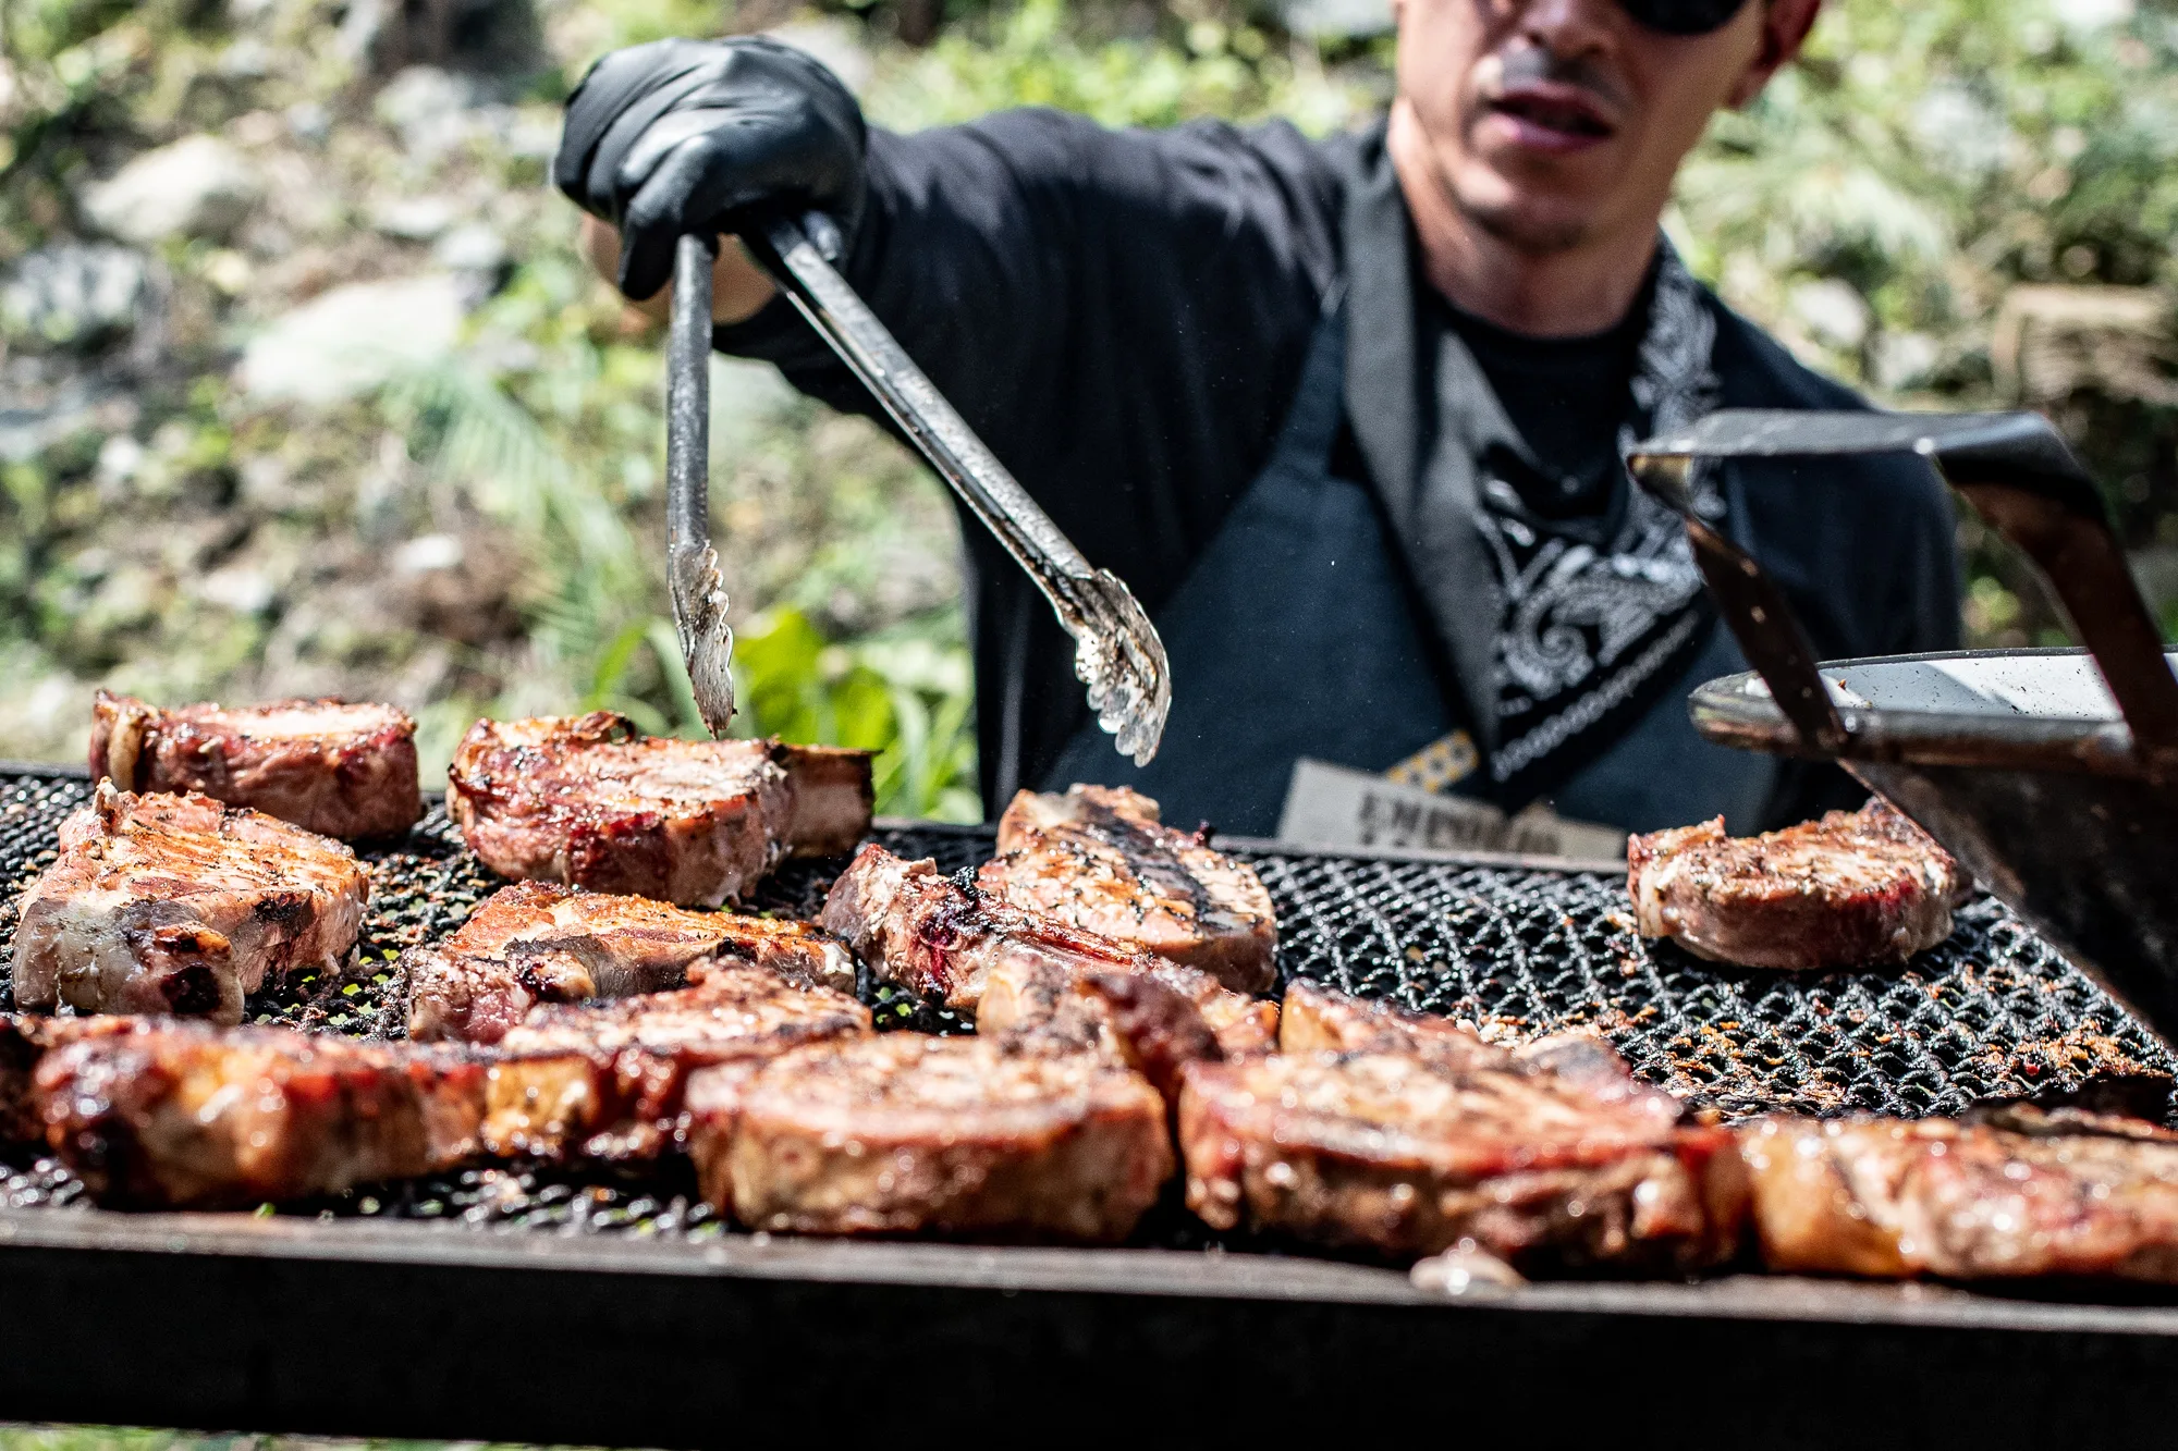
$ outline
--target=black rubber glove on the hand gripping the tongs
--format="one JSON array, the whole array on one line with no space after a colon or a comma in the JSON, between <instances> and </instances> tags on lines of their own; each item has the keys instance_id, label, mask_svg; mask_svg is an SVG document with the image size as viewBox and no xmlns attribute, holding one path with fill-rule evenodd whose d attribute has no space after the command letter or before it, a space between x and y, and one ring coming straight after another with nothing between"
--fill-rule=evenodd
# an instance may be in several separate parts
<instances>
[{"instance_id":1,"label":"black rubber glove on the hand gripping the tongs","mask_svg":"<svg viewBox=\"0 0 2178 1451\"><path fill-rule=\"evenodd\" d=\"M614 50L566 98L553 181L621 229L621 292L673 277L690 231L823 211L843 244L862 214L862 109L830 70L762 37Z\"/></svg>"}]
</instances>

